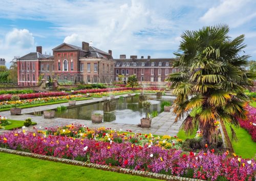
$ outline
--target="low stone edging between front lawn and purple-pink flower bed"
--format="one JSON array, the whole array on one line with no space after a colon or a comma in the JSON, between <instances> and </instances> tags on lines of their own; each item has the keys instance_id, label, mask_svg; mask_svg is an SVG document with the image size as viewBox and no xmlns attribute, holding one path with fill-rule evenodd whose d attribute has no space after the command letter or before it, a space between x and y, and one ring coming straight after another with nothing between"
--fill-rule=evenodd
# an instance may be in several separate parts
<instances>
[{"instance_id":1,"label":"low stone edging between front lawn and purple-pink flower bed","mask_svg":"<svg viewBox=\"0 0 256 181\"><path fill-rule=\"evenodd\" d=\"M175 180L175 181L199 180L199 179L194 179L194 178L186 178L186 177L165 175L165 174L146 172L146 171L140 171L140 170L132 170L132 169L127 169L127 168L122 168L122 167L111 167L108 165L99 165L99 164L93 164L93 163L87 163L87 162L81 162L81 161L75 161L75 160L61 159L59 157L29 153L29 152L12 150L12 149L7 149L7 148L0 148L0 152L16 154L16 155L20 155L20 156L28 156L28 157L32 157L34 159L47 160L47 161L59 162L59 163L63 163L63 164L76 165L76 166L82 166L82 167L96 168L96 169L105 170L105 171L126 173L126 174L131 174L131 175L138 175L138 176L150 177L150 178L156 178L156 179L162 179L162 180Z\"/></svg>"}]
</instances>

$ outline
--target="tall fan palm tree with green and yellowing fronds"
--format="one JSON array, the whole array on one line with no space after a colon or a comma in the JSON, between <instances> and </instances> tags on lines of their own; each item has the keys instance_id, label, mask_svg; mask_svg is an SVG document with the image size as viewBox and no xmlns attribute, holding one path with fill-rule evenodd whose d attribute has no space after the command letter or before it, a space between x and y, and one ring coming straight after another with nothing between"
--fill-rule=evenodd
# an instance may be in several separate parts
<instances>
[{"instance_id":1,"label":"tall fan palm tree with green and yellowing fronds","mask_svg":"<svg viewBox=\"0 0 256 181\"><path fill-rule=\"evenodd\" d=\"M239 126L237 118L246 118L244 94L253 86L255 74L247 73L248 55L241 55L246 45L244 35L231 40L229 27L218 25L198 31L185 31L173 67L180 70L170 74L176 100L176 120L185 117L182 128L191 133L199 125L205 143L215 143L218 131L215 121Z\"/></svg>"}]
</instances>

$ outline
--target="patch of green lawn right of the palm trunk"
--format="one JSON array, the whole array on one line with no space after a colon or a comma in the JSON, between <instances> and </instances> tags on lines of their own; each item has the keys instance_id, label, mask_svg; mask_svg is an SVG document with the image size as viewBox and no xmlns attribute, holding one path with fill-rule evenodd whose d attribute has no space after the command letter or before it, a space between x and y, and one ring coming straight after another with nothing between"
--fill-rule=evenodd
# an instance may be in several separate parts
<instances>
[{"instance_id":1,"label":"patch of green lawn right of the palm trunk","mask_svg":"<svg viewBox=\"0 0 256 181\"><path fill-rule=\"evenodd\" d=\"M234 152L242 156L243 158L252 158L256 154L256 142L251 139L251 135L243 128L233 127L236 131L238 142L231 141ZM226 126L229 138L231 138L231 132L229 126Z\"/></svg>"}]
</instances>

